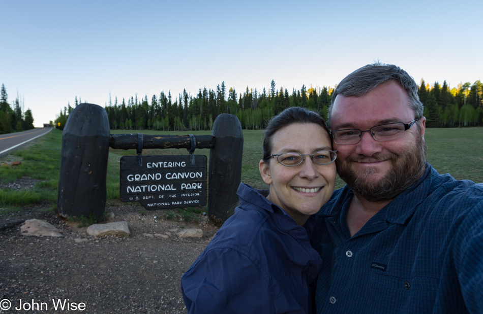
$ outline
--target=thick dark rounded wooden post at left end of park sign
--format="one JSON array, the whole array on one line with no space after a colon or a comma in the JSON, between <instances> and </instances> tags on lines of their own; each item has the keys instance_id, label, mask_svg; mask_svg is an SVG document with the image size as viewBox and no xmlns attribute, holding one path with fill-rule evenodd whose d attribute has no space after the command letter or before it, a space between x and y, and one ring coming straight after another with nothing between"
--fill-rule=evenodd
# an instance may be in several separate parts
<instances>
[{"instance_id":1,"label":"thick dark rounded wooden post at left end of park sign","mask_svg":"<svg viewBox=\"0 0 483 314\"><path fill-rule=\"evenodd\" d=\"M109 120L104 108L81 103L70 113L62 132L57 213L96 219L106 206Z\"/></svg>"}]
</instances>

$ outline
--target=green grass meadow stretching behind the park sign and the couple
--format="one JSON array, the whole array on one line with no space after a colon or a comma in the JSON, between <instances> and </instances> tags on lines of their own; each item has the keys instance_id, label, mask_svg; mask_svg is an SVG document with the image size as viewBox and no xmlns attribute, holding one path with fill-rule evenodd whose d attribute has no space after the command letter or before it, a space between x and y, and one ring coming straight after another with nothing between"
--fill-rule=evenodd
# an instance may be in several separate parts
<instances>
[{"instance_id":1,"label":"green grass meadow stretching behind the park sign and the couple","mask_svg":"<svg viewBox=\"0 0 483 314\"><path fill-rule=\"evenodd\" d=\"M131 131L135 133L136 130ZM129 133L125 130L111 130L111 133ZM189 132L154 132L142 130L144 134L187 135ZM210 131L193 131L195 135L209 135ZM258 189L265 189L258 171L262 157L262 130L244 130L244 151L241 181ZM426 130L428 161L440 172L450 173L456 179L483 182L483 128L435 128ZM32 191L15 191L11 188L0 189L0 214L21 210L44 203L52 210L56 207L57 183L61 160L62 132L54 129L42 136L27 148L4 156L0 165L13 160L21 160L19 166L0 166L0 185L28 177L39 180ZM122 156L135 155L135 150L109 150L107 171L107 199L119 198L119 160ZM185 155L186 149L143 150L143 155ZM195 154L209 158L208 149L199 149ZM208 161L209 163L209 161ZM344 186L337 179L336 188ZM44 206L45 207L45 206Z\"/></svg>"}]
</instances>

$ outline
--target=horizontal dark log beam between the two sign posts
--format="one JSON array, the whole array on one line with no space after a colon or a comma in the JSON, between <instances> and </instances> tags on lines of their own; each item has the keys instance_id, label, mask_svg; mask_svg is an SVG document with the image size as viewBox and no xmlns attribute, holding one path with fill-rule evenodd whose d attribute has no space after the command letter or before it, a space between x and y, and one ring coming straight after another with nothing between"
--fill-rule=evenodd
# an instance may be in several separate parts
<instances>
[{"instance_id":1,"label":"horizontal dark log beam between the two sign posts","mask_svg":"<svg viewBox=\"0 0 483 314\"><path fill-rule=\"evenodd\" d=\"M136 149L137 133L134 134L110 134L109 146L114 149ZM213 148L214 137L212 135L195 135L196 148ZM148 135L143 134L142 148L186 148L191 149L189 135Z\"/></svg>"}]
</instances>

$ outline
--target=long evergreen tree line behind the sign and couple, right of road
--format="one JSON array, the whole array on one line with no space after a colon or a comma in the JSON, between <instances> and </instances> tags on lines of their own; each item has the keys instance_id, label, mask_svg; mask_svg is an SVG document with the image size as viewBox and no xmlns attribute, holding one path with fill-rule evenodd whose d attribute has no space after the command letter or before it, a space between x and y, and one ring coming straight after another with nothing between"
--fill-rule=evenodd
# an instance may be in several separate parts
<instances>
[{"instance_id":1,"label":"long evergreen tree line behind the sign and couple, right of road","mask_svg":"<svg viewBox=\"0 0 483 314\"><path fill-rule=\"evenodd\" d=\"M336 85L337 86L337 85ZM105 103L105 110L111 129L142 130L155 129L162 131L208 130L212 129L216 117L222 113L234 114L238 117L244 129L264 129L268 120L288 107L303 107L327 117L330 97L334 88L307 88L299 90L276 88L275 81L270 83L268 92L263 88L249 89L237 94L234 88L227 88L225 82L216 89L199 89L192 96L184 89L183 93L173 99L171 92L166 95L161 91L159 97L147 95L138 99L137 94L126 102L125 98ZM427 84L421 79L418 85L419 98L424 104L424 116L428 127L461 127L483 125L483 84L478 80L472 85L460 83L449 89L446 81L440 85L435 82ZM85 101L87 102L87 101ZM75 97L75 106L81 99ZM70 102L55 119L55 125L60 123L63 129L73 107Z\"/></svg>"}]
</instances>

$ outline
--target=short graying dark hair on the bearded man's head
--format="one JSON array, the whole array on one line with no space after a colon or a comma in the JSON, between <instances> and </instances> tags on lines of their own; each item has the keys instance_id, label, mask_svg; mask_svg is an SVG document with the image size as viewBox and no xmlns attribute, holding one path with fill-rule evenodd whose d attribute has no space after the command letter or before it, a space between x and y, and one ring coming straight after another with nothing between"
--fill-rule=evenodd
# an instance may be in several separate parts
<instances>
[{"instance_id":1,"label":"short graying dark hair on the bearded man's head","mask_svg":"<svg viewBox=\"0 0 483 314\"><path fill-rule=\"evenodd\" d=\"M337 85L337 88L332 93L330 100L330 107L328 110L328 124L330 125L330 115L334 107L336 96L341 94L343 96L363 96L375 89L382 83L388 81L396 81L407 92L409 96L409 107L416 113L416 119L423 115L424 107L419 100L417 94L418 86L414 79L407 74L406 71L399 66L393 64L374 63L368 64L356 69L354 72L346 76Z\"/></svg>"}]
</instances>

